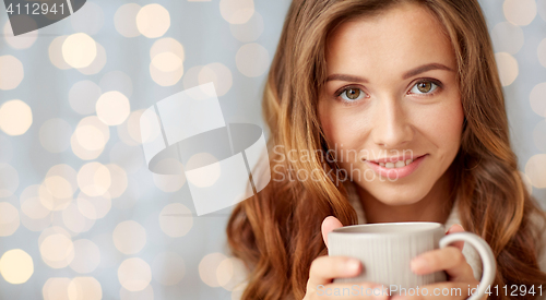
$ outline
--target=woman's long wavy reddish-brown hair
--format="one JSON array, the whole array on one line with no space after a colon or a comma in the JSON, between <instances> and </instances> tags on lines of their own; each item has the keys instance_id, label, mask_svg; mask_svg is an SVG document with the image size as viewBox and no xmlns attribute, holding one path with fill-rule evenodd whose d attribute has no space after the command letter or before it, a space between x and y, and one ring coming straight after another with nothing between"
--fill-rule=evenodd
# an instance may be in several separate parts
<instances>
[{"instance_id":1,"label":"woman's long wavy reddish-brown hair","mask_svg":"<svg viewBox=\"0 0 546 300\"><path fill-rule=\"evenodd\" d=\"M412 0L411 0L412 1ZM347 191L317 113L325 82L329 34L407 0L294 0L285 19L263 93L271 181L239 203L227 224L232 254L249 268L245 300L302 299L311 262L328 253L321 223L330 215L357 224ZM477 0L413 0L443 25L458 63L464 110L461 147L452 166L461 223L491 247L494 286L546 284L537 249L536 215L545 213L525 189L509 140L502 87L486 22ZM307 153L306 159L294 159ZM299 157L301 158L301 157ZM312 180L300 180L302 176ZM520 297L534 299L533 295ZM508 299L491 295L490 299Z\"/></svg>"}]
</instances>

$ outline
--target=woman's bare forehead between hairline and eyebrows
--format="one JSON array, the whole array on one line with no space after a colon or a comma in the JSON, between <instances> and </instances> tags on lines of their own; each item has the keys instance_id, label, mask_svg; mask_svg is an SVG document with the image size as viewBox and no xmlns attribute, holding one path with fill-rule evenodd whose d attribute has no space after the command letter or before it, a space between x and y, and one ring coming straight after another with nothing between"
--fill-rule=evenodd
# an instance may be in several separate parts
<instances>
[{"instance_id":1,"label":"woman's bare forehead between hairline and eyebrows","mask_svg":"<svg viewBox=\"0 0 546 300\"><path fill-rule=\"evenodd\" d=\"M432 13L422 5L404 3L337 26L327 41L327 62L329 73L347 68L355 72L403 72L429 62L454 67L455 57L442 24Z\"/></svg>"}]
</instances>

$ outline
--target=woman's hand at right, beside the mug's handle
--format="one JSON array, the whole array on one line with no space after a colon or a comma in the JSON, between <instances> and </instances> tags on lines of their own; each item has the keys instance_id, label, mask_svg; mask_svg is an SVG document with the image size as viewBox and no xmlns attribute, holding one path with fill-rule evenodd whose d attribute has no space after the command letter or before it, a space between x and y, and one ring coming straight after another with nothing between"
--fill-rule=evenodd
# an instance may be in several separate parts
<instances>
[{"instance_id":1,"label":"woman's hand at right, beside the mug's handle","mask_svg":"<svg viewBox=\"0 0 546 300\"><path fill-rule=\"evenodd\" d=\"M464 232L464 229L460 225L453 225L448 230L447 235L454 232ZM425 252L417 257L414 257L411 262L412 271L415 274L424 275L438 271L446 271L448 274L448 281L437 283L432 285L427 285L419 287L419 295L405 295L393 296L392 300L425 300L425 299L466 299L470 297L468 285L471 289L476 287L479 281L474 278L472 267L466 262L463 255L464 242L459 241L443 249L437 249L432 251ZM423 290L428 291L428 296L423 295ZM435 289L437 295L435 296ZM450 292L448 296L440 295L442 290L446 289ZM453 290L452 290L453 289ZM474 289L475 291L475 289ZM483 299L487 299L487 295Z\"/></svg>"}]
</instances>

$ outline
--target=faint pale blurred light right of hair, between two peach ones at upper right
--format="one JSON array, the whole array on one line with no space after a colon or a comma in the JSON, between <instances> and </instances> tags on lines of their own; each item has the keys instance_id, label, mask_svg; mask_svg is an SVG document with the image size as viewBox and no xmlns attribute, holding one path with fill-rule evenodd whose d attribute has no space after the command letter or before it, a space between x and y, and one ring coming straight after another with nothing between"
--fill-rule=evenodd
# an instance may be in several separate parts
<instances>
[{"instance_id":1,"label":"faint pale blurred light right of hair, between two peach ones at upper right","mask_svg":"<svg viewBox=\"0 0 546 300\"><path fill-rule=\"evenodd\" d=\"M515 55L523 47L524 37L521 27L510 22L500 22L491 31L496 52Z\"/></svg>"}]
</instances>

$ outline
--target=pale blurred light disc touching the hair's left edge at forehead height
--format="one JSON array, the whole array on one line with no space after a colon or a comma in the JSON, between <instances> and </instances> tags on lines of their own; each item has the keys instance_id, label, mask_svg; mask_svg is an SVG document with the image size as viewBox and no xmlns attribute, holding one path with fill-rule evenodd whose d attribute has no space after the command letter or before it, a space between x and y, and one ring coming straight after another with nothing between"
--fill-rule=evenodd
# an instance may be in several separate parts
<instances>
[{"instance_id":1,"label":"pale blurred light disc touching the hair's left edge at forehead height","mask_svg":"<svg viewBox=\"0 0 546 300\"><path fill-rule=\"evenodd\" d=\"M269 68L269 60L268 49L256 43L242 45L235 56L237 69L248 77L262 75Z\"/></svg>"}]
</instances>

